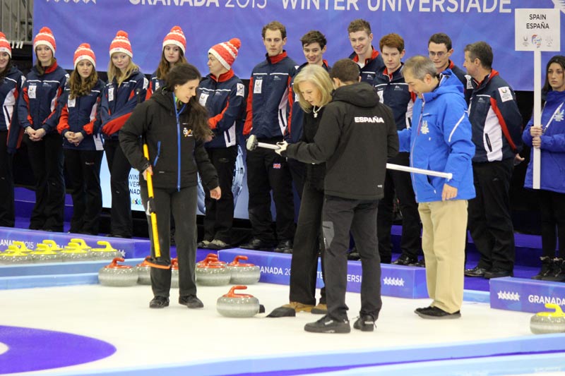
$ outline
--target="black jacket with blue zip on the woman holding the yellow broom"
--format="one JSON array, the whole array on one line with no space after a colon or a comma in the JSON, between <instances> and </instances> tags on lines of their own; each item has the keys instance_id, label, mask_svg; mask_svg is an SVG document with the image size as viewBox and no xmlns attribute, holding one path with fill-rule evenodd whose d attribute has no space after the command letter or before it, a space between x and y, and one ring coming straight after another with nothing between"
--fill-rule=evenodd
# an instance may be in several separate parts
<instances>
[{"instance_id":1,"label":"black jacket with blue zip on the woman holding the yellow broom","mask_svg":"<svg viewBox=\"0 0 565 376\"><path fill-rule=\"evenodd\" d=\"M157 90L133 110L119 132L121 150L131 166L139 171L153 166L155 188L179 190L196 186L197 172L208 189L218 186L218 174L208 159L204 143L194 138L188 123L189 109L187 105L177 122L172 92ZM148 144L150 161L143 157L141 137Z\"/></svg>"}]
</instances>

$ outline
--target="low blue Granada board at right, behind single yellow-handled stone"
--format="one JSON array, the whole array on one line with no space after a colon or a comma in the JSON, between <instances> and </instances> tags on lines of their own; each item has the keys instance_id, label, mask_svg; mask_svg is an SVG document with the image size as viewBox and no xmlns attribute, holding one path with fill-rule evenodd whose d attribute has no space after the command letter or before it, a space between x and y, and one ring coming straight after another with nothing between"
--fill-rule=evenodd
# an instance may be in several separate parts
<instances>
[{"instance_id":1,"label":"low blue Granada board at right, behind single yellow-handled stone","mask_svg":"<svg viewBox=\"0 0 565 376\"><path fill-rule=\"evenodd\" d=\"M490 280L491 308L538 313L547 312L545 303L565 309L565 284L512 277Z\"/></svg>"}]
</instances>

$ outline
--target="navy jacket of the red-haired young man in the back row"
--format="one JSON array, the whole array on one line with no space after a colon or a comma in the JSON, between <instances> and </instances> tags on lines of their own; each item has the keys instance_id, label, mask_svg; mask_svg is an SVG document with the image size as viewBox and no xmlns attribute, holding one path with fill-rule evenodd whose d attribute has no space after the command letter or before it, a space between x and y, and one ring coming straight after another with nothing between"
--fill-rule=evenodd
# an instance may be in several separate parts
<instances>
[{"instance_id":1,"label":"navy jacket of the red-haired young man in the back row","mask_svg":"<svg viewBox=\"0 0 565 376\"><path fill-rule=\"evenodd\" d=\"M386 104L393 110L398 131L410 128L412 109L416 100L416 96L408 90L408 84L404 82L403 67L404 65L389 75L385 66L376 73L373 81L381 103Z\"/></svg>"}]
</instances>

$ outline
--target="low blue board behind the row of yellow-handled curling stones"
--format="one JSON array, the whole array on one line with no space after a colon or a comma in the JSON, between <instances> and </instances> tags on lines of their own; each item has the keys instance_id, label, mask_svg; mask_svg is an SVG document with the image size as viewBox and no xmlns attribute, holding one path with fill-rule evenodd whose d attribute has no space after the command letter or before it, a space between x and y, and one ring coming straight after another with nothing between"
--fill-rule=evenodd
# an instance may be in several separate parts
<instances>
[{"instance_id":1,"label":"low blue board behind the row of yellow-handled curling stones","mask_svg":"<svg viewBox=\"0 0 565 376\"><path fill-rule=\"evenodd\" d=\"M59 232L26 230L26 229L13 229L11 227L0 227L0 250L8 249L14 241L22 241L27 248L35 250L37 243L42 243L44 240L52 240L59 248L71 242L73 238L83 239L87 245L92 248L106 248L105 245L100 245L98 241L107 241L121 252L126 258L145 257L150 253L150 243L148 240L140 239L123 239L123 238L107 238L102 236L81 235L78 234L63 234Z\"/></svg>"}]
</instances>

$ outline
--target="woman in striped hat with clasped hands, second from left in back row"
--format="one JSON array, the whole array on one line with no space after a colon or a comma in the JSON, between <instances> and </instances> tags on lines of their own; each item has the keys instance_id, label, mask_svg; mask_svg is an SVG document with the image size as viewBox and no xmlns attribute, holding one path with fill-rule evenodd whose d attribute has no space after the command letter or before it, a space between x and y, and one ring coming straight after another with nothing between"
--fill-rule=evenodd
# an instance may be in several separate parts
<instances>
[{"instance_id":1,"label":"woman in striped hat with clasped hands, second from left in back row","mask_svg":"<svg viewBox=\"0 0 565 376\"><path fill-rule=\"evenodd\" d=\"M35 205L30 218L33 230L63 231L63 142L57 124L61 114L58 100L69 75L57 65L56 49L51 30L41 28L33 40L37 61L18 100L18 121L35 176Z\"/></svg>"}]
</instances>

